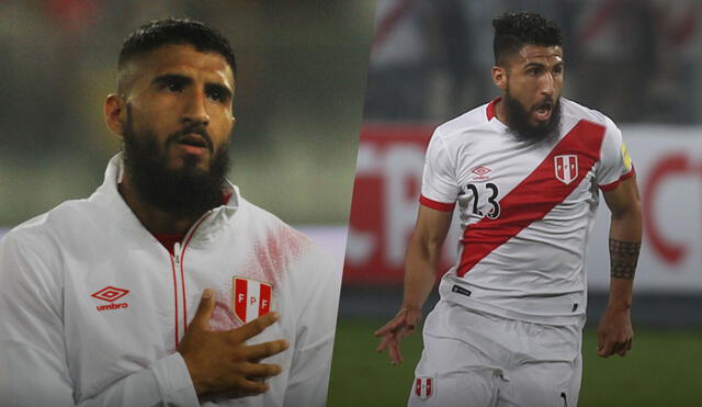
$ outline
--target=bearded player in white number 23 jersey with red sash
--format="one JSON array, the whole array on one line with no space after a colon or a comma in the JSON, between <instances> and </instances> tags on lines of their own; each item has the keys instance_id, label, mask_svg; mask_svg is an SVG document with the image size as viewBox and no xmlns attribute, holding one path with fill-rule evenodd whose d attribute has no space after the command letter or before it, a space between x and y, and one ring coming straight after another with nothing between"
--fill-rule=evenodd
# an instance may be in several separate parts
<instances>
[{"instance_id":1,"label":"bearded player in white number 23 jersey with red sash","mask_svg":"<svg viewBox=\"0 0 702 407\"><path fill-rule=\"evenodd\" d=\"M561 98L559 29L533 13L494 20L501 98L439 126L429 144L400 312L376 331L401 362L458 203L456 264L427 317L410 406L575 406L581 376L587 237L602 190L612 213L611 291L598 354L632 346L642 218L621 132Z\"/></svg>"}]
</instances>

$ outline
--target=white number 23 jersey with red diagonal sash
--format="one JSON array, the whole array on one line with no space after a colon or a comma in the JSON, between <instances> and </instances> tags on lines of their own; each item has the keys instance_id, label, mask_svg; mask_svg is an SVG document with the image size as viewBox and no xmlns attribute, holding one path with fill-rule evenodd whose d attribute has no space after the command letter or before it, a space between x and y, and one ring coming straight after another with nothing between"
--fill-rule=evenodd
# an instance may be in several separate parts
<instances>
[{"instance_id":1,"label":"white number 23 jersey with red diagonal sash","mask_svg":"<svg viewBox=\"0 0 702 407\"><path fill-rule=\"evenodd\" d=\"M599 189L634 170L602 113L561 98L553 143L519 143L497 100L439 126L429 143L422 205L452 211L463 236L442 298L507 318L573 324L586 308L584 272Z\"/></svg>"}]
</instances>

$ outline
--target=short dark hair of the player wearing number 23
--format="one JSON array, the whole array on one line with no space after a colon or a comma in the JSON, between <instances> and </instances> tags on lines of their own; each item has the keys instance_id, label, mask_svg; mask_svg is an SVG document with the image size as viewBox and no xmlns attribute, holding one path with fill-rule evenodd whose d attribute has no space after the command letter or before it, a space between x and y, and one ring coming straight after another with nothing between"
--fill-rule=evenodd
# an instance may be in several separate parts
<instances>
[{"instance_id":1,"label":"short dark hair of the player wearing number 23","mask_svg":"<svg viewBox=\"0 0 702 407\"><path fill-rule=\"evenodd\" d=\"M505 66L509 55L519 53L526 44L563 47L561 27L536 13L505 13L492 20L495 64Z\"/></svg>"}]
</instances>

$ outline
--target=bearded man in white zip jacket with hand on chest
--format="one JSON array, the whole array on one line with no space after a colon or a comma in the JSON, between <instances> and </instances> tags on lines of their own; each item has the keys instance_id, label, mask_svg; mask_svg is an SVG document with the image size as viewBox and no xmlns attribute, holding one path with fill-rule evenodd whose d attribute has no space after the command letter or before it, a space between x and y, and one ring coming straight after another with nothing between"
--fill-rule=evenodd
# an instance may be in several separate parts
<instances>
[{"instance_id":1,"label":"bearded man in white zip jacket with hand on chest","mask_svg":"<svg viewBox=\"0 0 702 407\"><path fill-rule=\"evenodd\" d=\"M324 406L339 273L225 179L228 42L155 21L117 71L104 183L0 244L0 404Z\"/></svg>"}]
</instances>

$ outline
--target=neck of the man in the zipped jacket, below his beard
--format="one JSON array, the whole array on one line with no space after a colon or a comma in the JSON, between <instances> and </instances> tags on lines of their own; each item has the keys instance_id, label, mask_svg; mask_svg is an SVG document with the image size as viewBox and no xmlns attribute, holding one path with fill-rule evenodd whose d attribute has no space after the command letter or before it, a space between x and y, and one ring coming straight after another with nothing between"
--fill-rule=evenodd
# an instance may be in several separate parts
<instances>
[{"instance_id":1,"label":"neck of the man in the zipped jacket, below his beard","mask_svg":"<svg viewBox=\"0 0 702 407\"><path fill-rule=\"evenodd\" d=\"M127 173L117 185L124 202L151 235L185 235L199 217L174 215L141 200Z\"/></svg>"}]
</instances>

